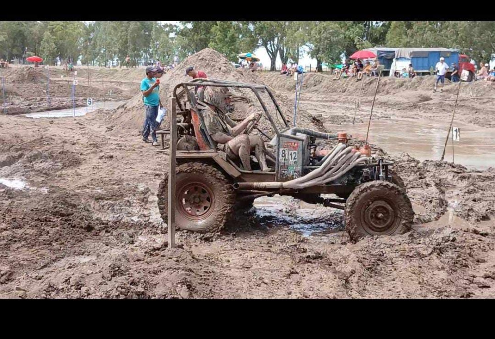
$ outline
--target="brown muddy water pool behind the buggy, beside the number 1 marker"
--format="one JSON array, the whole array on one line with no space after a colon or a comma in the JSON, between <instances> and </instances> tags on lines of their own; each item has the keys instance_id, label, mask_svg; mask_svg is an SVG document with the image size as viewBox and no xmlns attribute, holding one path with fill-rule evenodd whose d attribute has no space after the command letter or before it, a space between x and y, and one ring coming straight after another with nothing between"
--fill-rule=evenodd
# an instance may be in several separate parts
<instances>
[{"instance_id":1,"label":"brown muddy water pool behind the buggy, beside the number 1 marker","mask_svg":"<svg viewBox=\"0 0 495 339\"><path fill-rule=\"evenodd\" d=\"M418 160L440 160L449 124L434 120L372 120L368 141L391 154L406 152ZM368 124L326 124L325 127L365 140ZM460 128L460 141L454 141L455 163L482 170L495 166L495 129L456 122L453 127ZM444 160L452 161L451 135Z\"/></svg>"}]
</instances>

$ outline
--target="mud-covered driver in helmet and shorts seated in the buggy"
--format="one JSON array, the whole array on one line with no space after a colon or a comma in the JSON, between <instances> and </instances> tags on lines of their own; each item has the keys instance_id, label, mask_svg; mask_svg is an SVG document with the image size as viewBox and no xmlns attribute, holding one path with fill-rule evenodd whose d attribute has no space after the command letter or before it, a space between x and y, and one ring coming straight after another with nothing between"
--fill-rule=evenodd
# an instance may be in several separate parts
<instances>
[{"instance_id":1,"label":"mud-covered driver in helmet and shorts seated in the buggy","mask_svg":"<svg viewBox=\"0 0 495 339\"><path fill-rule=\"evenodd\" d=\"M269 171L266 164L265 143L259 136L242 134L251 121L258 121L261 113L252 113L239 124L236 124L227 113L233 112L230 103L232 93L228 91L207 91L207 102L216 107L213 110L206 103L198 100L198 108L202 109L208 134L215 146L224 151L231 160L240 159L243 168L251 170L250 154L254 155L262 171Z\"/></svg>"}]
</instances>

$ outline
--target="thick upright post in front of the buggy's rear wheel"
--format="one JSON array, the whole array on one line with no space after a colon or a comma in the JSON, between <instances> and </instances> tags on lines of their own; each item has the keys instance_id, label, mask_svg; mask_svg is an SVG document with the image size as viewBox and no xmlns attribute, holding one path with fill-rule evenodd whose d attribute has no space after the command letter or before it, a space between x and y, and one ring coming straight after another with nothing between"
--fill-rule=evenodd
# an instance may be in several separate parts
<instances>
[{"instance_id":1,"label":"thick upright post in front of the buggy's rear wheel","mask_svg":"<svg viewBox=\"0 0 495 339\"><path fill-rule=\"evenodd\" d=\"M177 113L175 97L170 100L170 146L168 165L168 248L175 247L175 153L177 151Z\"/></svg>"}]
</instances>

